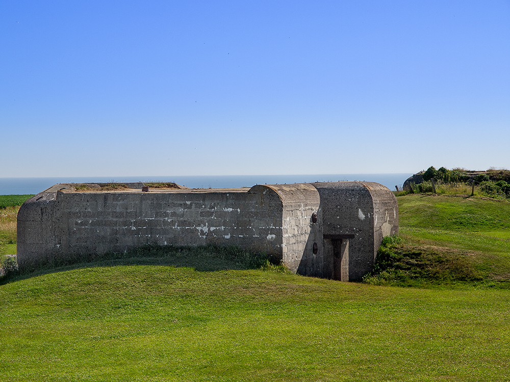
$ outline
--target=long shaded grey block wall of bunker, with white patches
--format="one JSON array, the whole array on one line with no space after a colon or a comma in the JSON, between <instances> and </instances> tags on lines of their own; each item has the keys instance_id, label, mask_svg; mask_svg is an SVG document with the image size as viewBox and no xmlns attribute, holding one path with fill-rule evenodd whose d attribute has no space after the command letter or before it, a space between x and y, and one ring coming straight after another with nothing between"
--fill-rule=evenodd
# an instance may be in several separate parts
<instances>
[{"instance_id":1,"label":"long shaded grey block wall of bunker, with white patches","mask_svg":"<svg viewBox=\"0 0 510 382\"><path fill-rule=\"evenodd\" d=\"M21 268L145 243L239 245L282 258L282 201L266 186L228 192L59 191L37 199L18 215Z\"/></svg>"}]
</instances>

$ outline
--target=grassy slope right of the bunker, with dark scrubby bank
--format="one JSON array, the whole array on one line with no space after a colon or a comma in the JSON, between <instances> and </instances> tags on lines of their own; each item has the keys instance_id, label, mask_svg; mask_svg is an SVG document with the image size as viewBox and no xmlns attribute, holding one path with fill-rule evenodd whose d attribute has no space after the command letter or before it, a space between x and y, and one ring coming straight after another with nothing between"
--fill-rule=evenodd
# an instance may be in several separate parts
<instances>
[{"instance_id":1,"label":"grassy slope right of the bunker, with dark scrubby bank","mask_svg":"<svg viewBox=\"0 0 510 382\"><path fill-rule=\"evenodd\" d=\"M386 242L366 282L510 286L510 203L426 194L397 200L402 240Z\"/></svg>"}]
</instances>

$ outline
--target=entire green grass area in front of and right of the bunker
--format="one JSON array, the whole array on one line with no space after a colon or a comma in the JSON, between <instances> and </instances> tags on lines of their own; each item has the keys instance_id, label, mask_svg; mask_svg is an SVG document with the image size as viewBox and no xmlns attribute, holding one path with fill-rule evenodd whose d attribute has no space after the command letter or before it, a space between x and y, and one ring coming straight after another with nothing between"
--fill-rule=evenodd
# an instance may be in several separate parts
<instances>
[{"instance_id":1,"label":"entire green grass area in front of and right of the bunker","mask_svg":"<svg viewBox=\"0 0 510 382\"><path fill-rule=\"evenodd\" d=\"M401 239L372 281L413 288L213 249L6 280L0 380L510 380L509 204L398 202Z\"/></svg>"}]
</instances>

